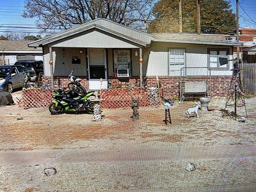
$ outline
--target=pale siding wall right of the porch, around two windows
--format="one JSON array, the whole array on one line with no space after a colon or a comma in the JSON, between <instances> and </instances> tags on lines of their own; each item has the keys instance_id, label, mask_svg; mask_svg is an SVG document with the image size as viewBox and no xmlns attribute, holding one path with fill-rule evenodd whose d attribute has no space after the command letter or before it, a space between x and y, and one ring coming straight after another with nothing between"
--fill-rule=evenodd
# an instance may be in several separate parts
<instances>
[{"instance_id":1,"label":"pale siding wall right of the porch, around two windows","mask_svg":"<svg viewBox=\"0 0 256 192\"><path fill-rule=\"evenodd\" d=\"M228 49L229 59L232 59L232 49L230 46L207 46L198 44L181 44L181 43L162 43L153 42L151 47L144 50L143 57L147 62L143 63L147 68L147 76L180 76L180 71L169 71L169 49L182 48L185 49L185 67L207 67L209 64L209 54L207 49L218 48ZM229 61L229 69L233 68L233 62ZM227 70L211 70L211 75L232 75L232 71ZM186 69L187 75L207 75L207 69Z\"/></svg>"}]
</instances>

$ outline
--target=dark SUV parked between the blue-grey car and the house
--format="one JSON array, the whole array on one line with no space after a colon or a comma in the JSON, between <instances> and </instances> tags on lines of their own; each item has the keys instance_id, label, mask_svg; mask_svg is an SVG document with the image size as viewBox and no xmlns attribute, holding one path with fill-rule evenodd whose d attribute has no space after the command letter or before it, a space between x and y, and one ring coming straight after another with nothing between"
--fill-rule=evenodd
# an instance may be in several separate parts
<instances>
[{"instance_id":1,"label":"dark SUV parked between the blue-grey car and the house","mask_svg":"<svg viewBox=\"0 0 256 192\"><path fill-rule=\"evenodd\" d=\"M44 73L43 61L39 60L20 60L14 63L14 65L22 65L29 72L29 81L37 82L39 74Z\"/></svg>"}]
</instances>

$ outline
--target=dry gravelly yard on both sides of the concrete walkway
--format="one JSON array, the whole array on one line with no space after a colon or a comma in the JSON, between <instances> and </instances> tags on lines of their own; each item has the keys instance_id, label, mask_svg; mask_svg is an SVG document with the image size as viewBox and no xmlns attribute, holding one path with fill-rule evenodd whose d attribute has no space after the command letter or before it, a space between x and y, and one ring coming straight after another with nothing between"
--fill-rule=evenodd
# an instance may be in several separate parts
<instances>
[{"instance_id":1,"label":"dry gravelly yard on both sides of the concrete walkway","mask_svg":"<svg viewBox=\"0 0 256 192\"><path fill-rule=\"evenodd\" d=\"M115 154L122 149L255 146L256 98L246 99L246 104L249 118L244 123L221 117L225 99L212 100L212 110L200 110L199 118L188 119L185 115L193 102L174 105L170 109L172 125L164 124L162 107L139 108L140 119L135 122L131 119L131 109L103 109L102 121L94 122L89 114L54 116L47 108L25 110L17 105L5 106L0 107L0 153L60 151L61 156L71 150L78 154L82 150L111 150ZM17 120L20 117L23 119ZM129 155L137 158L136 154L127 153ZM59 163L2 164L0 191L256 190L256 156L235 150L223 158L201 157L203 155L195 159L188 156L179 161L173 158L141 161L138 158L132 162L68 162L64 158L65 161ZM188 161L195 164L195 171L185 170ZM47 177L46 167L55 167L57 173Z\"/></svg>"}]
</instances>

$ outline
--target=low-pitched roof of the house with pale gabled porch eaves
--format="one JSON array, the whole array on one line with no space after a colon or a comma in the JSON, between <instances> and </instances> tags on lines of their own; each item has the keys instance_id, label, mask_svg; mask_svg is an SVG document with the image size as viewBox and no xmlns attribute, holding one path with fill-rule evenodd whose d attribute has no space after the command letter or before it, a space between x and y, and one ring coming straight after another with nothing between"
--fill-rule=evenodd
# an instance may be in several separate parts
<instances>
[{"instance_id":1,"label":"low-pitched roof of the house with pale gabled porch eaves","mask_svg":"<svg viewBox=\"0 0 256 192\"><path fill-rule=\"evenodd\" d=\"M146 46L151 44L151 41L155 42L173 42L173 43L190 43L190 44L206 44L206 45L229 45L229 46L239 46L243 45L243 43L234 43L234 42L228 42L223 39L222 37L221 41L220 39L214 39L214 38L207 38L203 39L199 35L197 38L188 38L189 36L185 35L185 38L181 38L182 35L180 36L166 36L166 35L161 35L161 34L147 34L142 31L132 29L130 27L121 25L119 23L99 18L92 20L90 22L84 23L82 25L79 25L77 27L62 31L60 33L39 39L34 42L28 43L29 47L38 47L38 46L43 46L47 44L52 44L54 42L60 41L61 39L65 39L67 37L77 35L80 33L83 33L87 30L101 30L105 33L114 35L116 37L125 39L127 41L133 42L135 44L141 45L141 46ZM191 35L190 35L191 36ZM217 36L217 35L215 35Z\"/></svg>"}]
</instances>

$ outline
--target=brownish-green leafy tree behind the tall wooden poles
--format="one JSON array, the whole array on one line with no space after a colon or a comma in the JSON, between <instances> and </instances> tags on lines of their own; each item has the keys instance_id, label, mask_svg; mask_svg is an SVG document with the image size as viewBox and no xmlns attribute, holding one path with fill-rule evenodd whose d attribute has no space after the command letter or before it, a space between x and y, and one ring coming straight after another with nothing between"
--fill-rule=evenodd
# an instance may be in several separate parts
<instances>
[{"instance_id":1,"label":"brownish-green leafy tree behind the tall wooden poles","mask_svg":"<svg viewBox=\"0 0 256 192\"><path fill-rule=\"evenodd\" d=\"M226 0L201 0L201 33L230 34L236 28L235 14ZM179 0L161 0L155 4L151 33L179 33ZM182 0L182 31L196 33L196 1Z\"/></svg>"}]
</instances>

